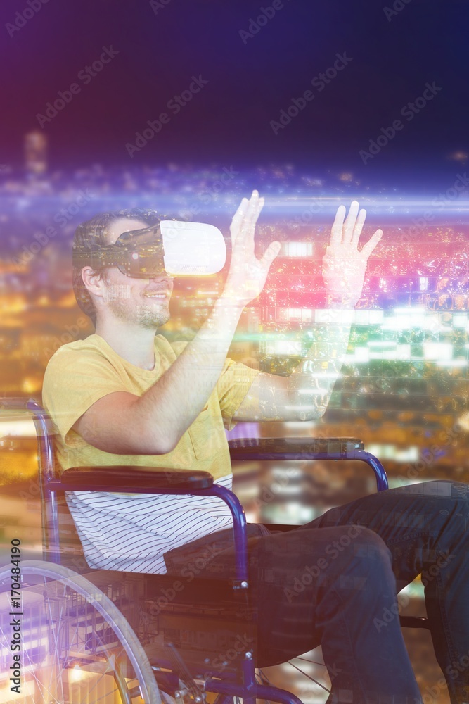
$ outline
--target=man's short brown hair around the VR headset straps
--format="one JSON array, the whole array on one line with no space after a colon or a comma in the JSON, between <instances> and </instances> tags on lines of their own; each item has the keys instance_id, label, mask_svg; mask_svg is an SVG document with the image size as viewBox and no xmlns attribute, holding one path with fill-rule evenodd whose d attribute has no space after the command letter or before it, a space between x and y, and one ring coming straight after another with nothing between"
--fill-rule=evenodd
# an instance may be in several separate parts
<instances>
[{"instance_id":1,"label":"man's short brown hair around the VR headset straps","mask_svg":"<svg viewBox=\"0 0 469 704\"><path fill-rule=\"evenodd\" d=\"M127 218L128 220L141 220L146 222L148 226L155 224L160 219L156 210L142 210L141 208L132 208L132 210L112 210L108 213L98 213L91 220L86 220L78 225L73 236L74 246L79 246L80 249L92 250L99 249L107 244L108 232L110 225L115 220ZM83 265L73 265L73 291L79 307L86 315L91 318L93 325L96 327L96 308L93 299L89 295L88 289L83 282L82 277ZM99 271L103 274L107 267L103 267Z\"/></svg>"}]
</instances>

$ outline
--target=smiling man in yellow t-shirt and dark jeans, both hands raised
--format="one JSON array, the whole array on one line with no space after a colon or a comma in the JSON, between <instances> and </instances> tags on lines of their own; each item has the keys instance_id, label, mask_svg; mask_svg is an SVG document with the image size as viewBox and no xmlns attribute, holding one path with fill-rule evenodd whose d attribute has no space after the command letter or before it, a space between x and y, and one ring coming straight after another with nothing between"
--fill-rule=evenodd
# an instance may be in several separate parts
<instances>
[{"instance_id":1,"label":"smiling man in yellow t-shirt and dark jeans, both hands raised","mask_svg":"<svg viewBox=\"0 0 469 704\"><path fill-rule=\"evenodd\" d=\"M262 291L280 249L273 242L260 260L255 256L263 204L253 191L236 211L224 290L188 344L155 337L169 318L167 273L132 278L117 266L92 265L92 249L113 245L124 232L143 231L148 221L137 213L111 213L78 228L75 246L89 248L90 263L77 268L75 293L96 319L96 334L60 348L46 370L44 403L58 428L62 467L196 468L230 486L224 427L321 417L340 372L368 256L382 232L359 250L366 213L356 201L347 218L338 208L323 260L329 343L320 350L313 345L290 377L264 374L226 360L240 314ZM420 701L399 619L385 617L396 614L397 591L437 564L425 587L435 650L453 700L469 700L468 673L457 680L449 674L451 658L469 650L465 487L425 486L416 494L404 488L365 497L285 534L250 527L259 665L321 642L336 700L392 695L396 703ZM207 567L210 574L223 569L232 553L229 542L223 549L231 518L217 499L79 492L68 495L68 504L91 567L178 574L200 545L214 541L218 554Z\"/></svg>"}]
</instances>

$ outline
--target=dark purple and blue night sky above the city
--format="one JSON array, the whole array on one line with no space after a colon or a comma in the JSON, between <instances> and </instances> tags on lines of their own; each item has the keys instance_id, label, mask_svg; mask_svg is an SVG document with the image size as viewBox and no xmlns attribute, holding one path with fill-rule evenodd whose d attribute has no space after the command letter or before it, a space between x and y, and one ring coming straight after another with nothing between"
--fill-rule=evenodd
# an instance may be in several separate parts
<instances>
[{"instance_id":1,"label":"dark purple and blue night sky above the city","mask_svg":"<svg viewBox=\"0 0 469 704\"><path fill-rule=\"evenodd\" d=\"M165 1L155 14L149 0L49 0L10 37L7 23L29 6L2 0L0 162L20 163L37 113L78 82L79 94L44 128L52 166L290 162L311 172L366 171L368 180L464 168L449 154L468 150L467 1L397 0L403 9L388 21L380 1L284 0L245 44L240 30L271 0ZM77 81L110 45L119 52L113 61L89 84ZM343 52L352 61L275 135L270 121ZM126 143L193 75L207 85L129 158ZM426 82L442 90L364 166L359 150Z\"/></svg>"}]
</instances>

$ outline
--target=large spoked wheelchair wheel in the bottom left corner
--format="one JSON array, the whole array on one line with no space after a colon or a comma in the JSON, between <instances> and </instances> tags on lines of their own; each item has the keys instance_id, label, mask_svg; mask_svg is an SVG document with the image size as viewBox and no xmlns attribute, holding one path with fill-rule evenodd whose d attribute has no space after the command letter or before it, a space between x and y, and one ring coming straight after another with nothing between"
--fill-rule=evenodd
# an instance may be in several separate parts
<instances>
[{"instance_id":1,"label":"large spoked wheelchair wheel in the bottom left corner","mask_svg":"<svg viewBox=\"0 0 469 704\"><path fill-rule=\"evenodd\" d=\"M20 608L12 605L11 566L0 570L0 692L16 684L19 654L15 704L161 704L143 647L98 587L52 562L25 560L20 569ZM15 653L12 620L21 624Z\"/></svg>"}]
</instances>

